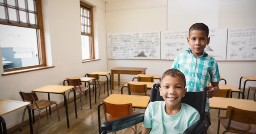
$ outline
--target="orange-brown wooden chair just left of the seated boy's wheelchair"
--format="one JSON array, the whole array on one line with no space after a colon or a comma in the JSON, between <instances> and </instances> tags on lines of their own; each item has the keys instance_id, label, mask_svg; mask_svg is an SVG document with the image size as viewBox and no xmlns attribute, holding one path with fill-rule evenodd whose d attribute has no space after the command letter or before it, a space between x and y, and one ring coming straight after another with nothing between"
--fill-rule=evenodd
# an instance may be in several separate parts
<instances>
[{"instance_id":1,"label":"orange-brown wooden chair just left of the seated boy's wheelchair","mask_svg":"<svg viewBox=\"0 0 256 134\"><path fill-rule=\"evenodd\" d=\"M135 112L132 111L132 103L118 105L118 104L111 104L111 103L102 101L102 104L103 104L103 110L104 110L106 121L117 119L117 118L124 117L131 114L136 114ZM106 113L110 114L108 118ZM135 128L134 127L129 127L129 128L133 128L134 134L137 134L137 125L135 125ZM116 132L114 132L114 134L116 134Z\"/></svg>"}]
</instances>

